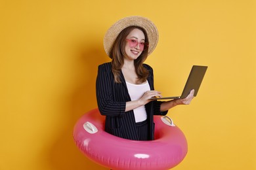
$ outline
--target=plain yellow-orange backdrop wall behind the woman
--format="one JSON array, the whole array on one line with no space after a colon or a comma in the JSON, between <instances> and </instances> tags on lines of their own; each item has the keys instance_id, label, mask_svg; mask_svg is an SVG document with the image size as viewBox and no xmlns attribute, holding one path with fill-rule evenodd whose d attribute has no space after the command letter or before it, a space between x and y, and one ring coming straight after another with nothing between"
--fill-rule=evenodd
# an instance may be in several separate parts
<instances>
[{"instance_id":1,"label":"plain yellow-orange backdrop wall behind the woman","mask_svg":"<svg viewBox=\"0 0 256 170\"><path fill-rule=\"evenodd\" d=\"M179 95L208 65L198 96L169 111L188 140L174 169L256 169L255 1L0 1L0 169L106 169L75 146L96 105L104 33L140 15L159 29L146 63L156 90Z\"/></svg>"}]
</instances>

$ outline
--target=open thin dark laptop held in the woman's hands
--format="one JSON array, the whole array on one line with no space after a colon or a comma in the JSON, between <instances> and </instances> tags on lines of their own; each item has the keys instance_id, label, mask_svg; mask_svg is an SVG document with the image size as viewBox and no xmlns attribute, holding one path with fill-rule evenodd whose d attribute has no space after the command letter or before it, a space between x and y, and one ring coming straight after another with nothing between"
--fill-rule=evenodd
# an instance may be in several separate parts
<instances>
[{"instance_id":1,"label":"open thin dark laptop held in the woman's hands","mask_svg":"<svg viewBox=\"0 0 256 170\"><path fill-rule=\"evenodd\" d=\"M196 97L206 70L207 70L207 66L193 65L193 67L190 71L190 74L188 76L188 80L186 80L186 85L184 86L181 96L153 97L151 99L156 99L156 100L159 100L159 99L183 99L183 98L186 98L188 96L188 94L190 93L190 91L193 89L195 90L194 97Z\"/></svg>"}]
</instances>

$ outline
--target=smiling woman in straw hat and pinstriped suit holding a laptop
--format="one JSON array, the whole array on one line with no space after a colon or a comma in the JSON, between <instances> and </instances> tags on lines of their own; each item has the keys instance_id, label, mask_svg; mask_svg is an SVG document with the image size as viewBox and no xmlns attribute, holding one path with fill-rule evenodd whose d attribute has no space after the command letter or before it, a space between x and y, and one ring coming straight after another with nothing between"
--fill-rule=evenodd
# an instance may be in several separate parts
<instances>
[{"instance_id":1,"label":"smiling woman in straw hat and pinstriped suit holding a laptop","mask_svg":"<svg viewBox=\"0 0 256 170\"><path fill-rule=\"evenodd\" d=\"M112 59L98 66L96 97L100 114L106 116L105 131L125 139L154 140L154 115L165 115L186 99L157 101L153 69L144 63L156 48L158 29L147 18L130 16L108 29L104 37L106 54Z\"/></svg>"}]
</instances>

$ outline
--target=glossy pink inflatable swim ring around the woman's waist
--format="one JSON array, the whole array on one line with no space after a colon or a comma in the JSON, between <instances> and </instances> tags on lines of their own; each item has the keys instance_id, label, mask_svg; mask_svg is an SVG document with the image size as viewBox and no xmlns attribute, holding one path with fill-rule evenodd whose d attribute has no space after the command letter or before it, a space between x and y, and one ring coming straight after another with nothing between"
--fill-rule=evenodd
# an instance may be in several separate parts
<instances>
[{"instance_id":1,"label":"glossy pink inflatable swim ring around the woman's waist","mask_svg":"<svg viewBox=\"0 0 256 170\"><path fill-rule=\"evenodd\" d=\"M79 150L104 167L170 169L186 156L186 138L167 116L154 116L154 141L133 141L106 133L104 119L98 109L94 109L84 114L74 127Z\"/></svg>"}]
</instances>

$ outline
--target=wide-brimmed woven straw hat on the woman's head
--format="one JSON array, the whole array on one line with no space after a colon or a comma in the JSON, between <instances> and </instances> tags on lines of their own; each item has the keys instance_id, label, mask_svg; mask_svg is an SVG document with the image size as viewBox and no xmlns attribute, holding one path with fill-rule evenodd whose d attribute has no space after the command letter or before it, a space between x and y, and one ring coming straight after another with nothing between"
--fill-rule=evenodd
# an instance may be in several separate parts
<instances>
[{"instance_id":1,"label":"wide-brimmed woven straw hat on the woman's head","mask_svg":"<svg viewBox=\"0 0 256 170\"><path fill-rule=\"evenodd\" d=\"M156 25L148 20L148 18L144 18L142 16L129 16L127 18L122 18L121 20L117 21L106 32L104 37L104 49L108 56L110 56L112 45L116 41L119 33L129 26L139 26L144 28L148 35L148 55L150 55L154 51L156 45L158 44L158 29L156 28Z\"/></svg>"}]
</instances>

